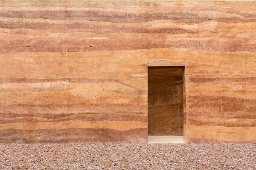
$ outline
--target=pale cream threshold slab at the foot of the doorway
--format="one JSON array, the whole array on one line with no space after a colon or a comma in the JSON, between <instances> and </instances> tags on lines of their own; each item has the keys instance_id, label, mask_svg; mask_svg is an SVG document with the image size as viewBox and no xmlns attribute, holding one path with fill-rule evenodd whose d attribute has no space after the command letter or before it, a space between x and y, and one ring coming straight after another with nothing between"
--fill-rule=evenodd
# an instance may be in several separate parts
<instances>
[{"instance_id":1,"label":"pale cream threshold slab at the foot of the doorway","mask_svg":"<svg viewBox=\"0 0 256 170\"><path fill-rule=\"evenodd\" d=\"M185 143L183 136L148 136L148 143Z\"/></svg>"}]
</instances>

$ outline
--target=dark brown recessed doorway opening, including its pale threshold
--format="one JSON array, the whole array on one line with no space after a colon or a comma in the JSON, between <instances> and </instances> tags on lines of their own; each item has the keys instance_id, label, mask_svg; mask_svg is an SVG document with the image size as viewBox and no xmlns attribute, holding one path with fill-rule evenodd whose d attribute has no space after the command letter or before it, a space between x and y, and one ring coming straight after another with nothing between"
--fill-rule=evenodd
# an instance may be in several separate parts
<instances>
[{"instance_id":1,"label":"dark brown recessed doorway opening, including its pale threshold","mask_svg":"<svg viewBox=\"0 0 256 170\"><path fill-rule=\"evenodd\" d=\"M148 143L184 143L183 71L148 67Z\"/></svg>"}]
</instances>

